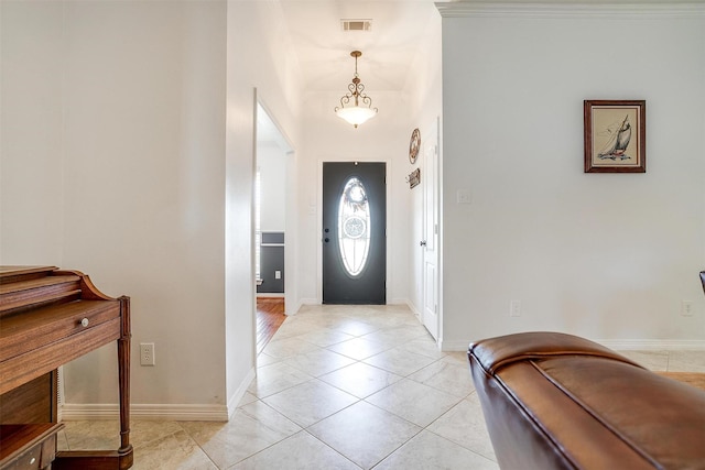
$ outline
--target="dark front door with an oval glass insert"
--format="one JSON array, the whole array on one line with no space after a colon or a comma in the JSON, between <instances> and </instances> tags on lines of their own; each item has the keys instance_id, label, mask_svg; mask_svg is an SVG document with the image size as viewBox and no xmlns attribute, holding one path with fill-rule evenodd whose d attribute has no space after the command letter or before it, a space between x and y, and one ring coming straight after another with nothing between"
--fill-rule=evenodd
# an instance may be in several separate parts
<instances>
[{"instance_id":1,"label":"dark front door with an oval glass insert","mask_svg":"<svg viewBox=\"0 0 705 470\"><path fill-rule=\"evenodd\" d=\"M386 304L384 163L323 164L323 303Z\"/></svg>"}]
</instances>

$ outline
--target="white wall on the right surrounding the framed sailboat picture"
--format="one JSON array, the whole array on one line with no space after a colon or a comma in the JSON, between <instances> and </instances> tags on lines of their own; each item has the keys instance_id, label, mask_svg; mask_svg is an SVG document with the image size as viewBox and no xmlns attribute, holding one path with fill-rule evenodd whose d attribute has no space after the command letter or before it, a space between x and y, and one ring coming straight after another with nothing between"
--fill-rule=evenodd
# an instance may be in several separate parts
<instances>
[{"instance_id":1,"label":"white wall on the right surrounding the framed sailboat picture","mask_svg":"<svg viewBox=\"0 0 705 470\"><path fill-rule=\"evenodd\" d=\"M446 349L541 329L702 346L703 6L445 7ZM583 173L584 99L647 100L646 174Z\"/></svg>"}]
</instances>

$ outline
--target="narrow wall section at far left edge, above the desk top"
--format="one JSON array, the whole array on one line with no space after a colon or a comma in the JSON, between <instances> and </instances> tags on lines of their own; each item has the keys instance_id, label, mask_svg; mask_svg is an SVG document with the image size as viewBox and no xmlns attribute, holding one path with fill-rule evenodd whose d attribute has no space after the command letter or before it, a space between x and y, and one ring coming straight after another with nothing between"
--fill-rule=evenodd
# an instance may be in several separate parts
<instances>
[{"instance_id":1,"label":"narrow wall section at far left edge, above the desk top","mask_svg":"<svg viewBox=\"0 0 705 470\"><path fill-rule=\"evenodd\" d=\"M0 2L0 262L61 265L62 4Z\"/></svg>"}]
</instances>

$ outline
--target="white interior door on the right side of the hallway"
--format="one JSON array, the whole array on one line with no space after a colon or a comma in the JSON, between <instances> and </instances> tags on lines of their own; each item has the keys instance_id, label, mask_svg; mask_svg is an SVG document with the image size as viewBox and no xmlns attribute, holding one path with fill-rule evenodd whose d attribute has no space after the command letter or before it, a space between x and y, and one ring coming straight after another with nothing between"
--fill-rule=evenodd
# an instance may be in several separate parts
<instances>
[{"instance_id":1,"label":"white interior door on the right side of the hallway","mask_svg":"<svg viewBox=\"0 0 705 470\"><path fill-rule=\"evenodd\" d=\"M423 325L438 340L438 131L422 139L423 196Z\"/></svg>"}]
</instances>

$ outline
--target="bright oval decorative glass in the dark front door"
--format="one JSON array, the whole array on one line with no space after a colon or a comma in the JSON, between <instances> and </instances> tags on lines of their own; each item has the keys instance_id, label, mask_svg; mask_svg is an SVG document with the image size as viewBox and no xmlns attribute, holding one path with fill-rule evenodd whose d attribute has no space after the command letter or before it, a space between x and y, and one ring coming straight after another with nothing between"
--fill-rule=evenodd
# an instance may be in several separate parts
<instances>
[{"instance_id":1,"label":"bright oval decorative glass in the dark front door","mask_svg":"<svg viewBox=\"0 0 705 470\"><path fill-rule=\"evenodd\" d=\"M340 195L338 247L345 270L351 276L359 275L370 252L370 206L357 176L348 179Z\"/></svg>"}]
</instances>

